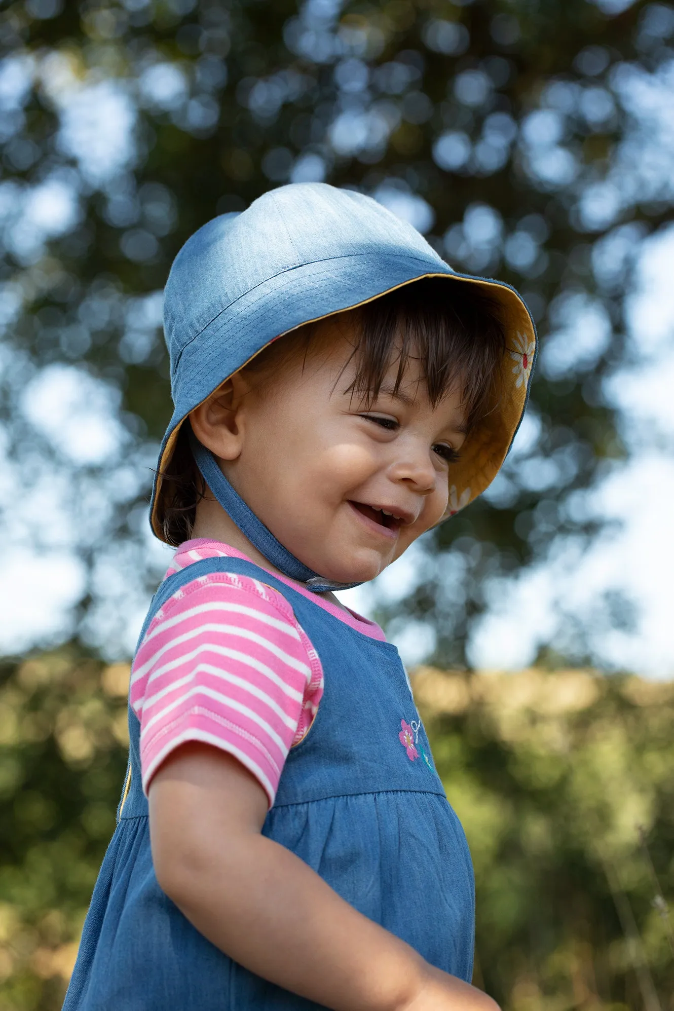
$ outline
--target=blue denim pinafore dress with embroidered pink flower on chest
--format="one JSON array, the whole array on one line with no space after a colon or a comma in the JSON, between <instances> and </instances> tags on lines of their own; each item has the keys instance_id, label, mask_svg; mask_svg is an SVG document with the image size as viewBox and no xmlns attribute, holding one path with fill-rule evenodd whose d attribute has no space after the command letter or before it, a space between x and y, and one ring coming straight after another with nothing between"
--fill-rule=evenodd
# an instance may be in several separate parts
<instances>
[{"instance_id":1,"label":"blue denim pinafore dress with embroidered pink flower on chest","mask_svg":"<svg viewBox=\"0 0 674 1011\"><path fill-rule=\"evenodd\" d=\"M282 593L324 672L318 713L290 750L263 834L296 853L347 902L428 962L470 982L471 858L395 646L362 634L252 562L221 557L169 576L143 633L181 585L221 571L251 576ZM124 795L65 1011L318 1008L232 961L158 885L140 786L139 729L129 708Z\"/></svg>"}]
</instances>

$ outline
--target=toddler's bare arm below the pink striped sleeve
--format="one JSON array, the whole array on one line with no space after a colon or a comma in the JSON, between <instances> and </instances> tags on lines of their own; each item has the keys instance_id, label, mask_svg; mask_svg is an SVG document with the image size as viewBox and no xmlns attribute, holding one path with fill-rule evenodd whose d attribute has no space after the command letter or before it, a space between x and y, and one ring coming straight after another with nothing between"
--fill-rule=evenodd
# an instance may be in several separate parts
<instances>
[{"instance_id":1,"label":"toddler's bare arm below the pink striped sleeve","mask_svg":"<svg viewBox=\"0 0 674 1011\"><path fill-rule=\"evenodd\" d=\"M197 930L257 975L334 1011L498 1011L261 835L267 808L257 779L208 745L183 745L154 776L157 879Z\"/></svg>"}]
</instances>

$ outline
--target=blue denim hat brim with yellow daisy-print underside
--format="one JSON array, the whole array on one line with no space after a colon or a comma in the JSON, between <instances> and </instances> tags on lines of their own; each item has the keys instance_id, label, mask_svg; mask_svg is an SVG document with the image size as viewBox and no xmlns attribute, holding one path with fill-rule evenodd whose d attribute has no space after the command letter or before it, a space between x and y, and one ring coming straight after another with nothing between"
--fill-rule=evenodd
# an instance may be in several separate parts
<instances>
[{"instance_id":1,"label":"blue denim hat brim with yellow daisy-print underside","mask_svg":"<svg viewBox=\"0 0 674 1011\"><path fill-rule=\"evenodd\" d=\"M526 405L538 342L524 302L502 281L459 274L436 259L390 255L373 258L360 254L282 271L227 305L187 343L174 364L175 410L155 473L151 524L157 537L166 541L164 475L180 427L195 407L278 338L304 324L356 308L429 277L468 281L481 288L496 303L505 333L506 351L497 403L471 430L462 447L461 459L452 467L450 502L443 520L481 494L502 465Z\"/></svg>"}]
</instances>

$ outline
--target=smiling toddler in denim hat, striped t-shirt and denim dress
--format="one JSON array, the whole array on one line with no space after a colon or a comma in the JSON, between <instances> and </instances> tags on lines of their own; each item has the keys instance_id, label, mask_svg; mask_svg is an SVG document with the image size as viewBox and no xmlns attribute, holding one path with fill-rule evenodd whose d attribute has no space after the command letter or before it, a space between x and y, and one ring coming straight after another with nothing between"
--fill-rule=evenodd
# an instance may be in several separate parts
<instances>
[{"instance_id":1,"label":"smiling toddler in denim hat, striped t-shirt and denim dress","mask_svg":"<svg viewBox=\"0 0 674 1011\"><path fill-rule=\"evenodd\" d=\"M67 1011L493 1011L473 871L394 646L334 590L497 473L518 295L325 184L205 224L165 297L176 548L131 668L128 771Z\"/></svg>"}]
</instances>

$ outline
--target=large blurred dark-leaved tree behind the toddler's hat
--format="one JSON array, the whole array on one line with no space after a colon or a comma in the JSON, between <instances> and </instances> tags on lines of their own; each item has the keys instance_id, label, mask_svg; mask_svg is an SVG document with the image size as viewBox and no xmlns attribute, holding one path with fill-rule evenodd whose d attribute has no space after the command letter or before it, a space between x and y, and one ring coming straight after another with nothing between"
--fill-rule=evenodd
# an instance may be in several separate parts
<instances>
[{"instance_id":1,"label":"large blurred dark-leaved tree behind the toddler's hat","mask_svg":"<svg viewBox=\"0 0 674 1011\"><path fill-rule=\"evenodd\" d=\"M591 533L577 492L623 454L604 380L625 360L639 244L671 214L674 8L2 6L6 488L37 501L21 522L45 552L84 562L70 590L80 637L119 655L159 574L145 524L170 415L159 326L172 258L213 214L324 179L376 196L457 268L515 284L540 325L529 416L502 476L427 537L416 586L380 615L430 623L436 661L464 662L491 582Z\"/></svg>"}]
</instances>

